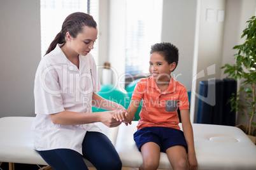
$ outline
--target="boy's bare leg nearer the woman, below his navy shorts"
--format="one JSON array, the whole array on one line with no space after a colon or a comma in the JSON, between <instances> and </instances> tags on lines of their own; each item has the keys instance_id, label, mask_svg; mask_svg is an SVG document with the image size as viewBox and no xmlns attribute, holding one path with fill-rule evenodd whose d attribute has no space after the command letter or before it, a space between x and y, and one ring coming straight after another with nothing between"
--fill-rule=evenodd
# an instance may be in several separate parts
<instances>
[{"instance_id":1,"label":"boy's bare leg nearer the woman, below his navy shorts","mask_svg":"<svg viewBox=\"0 0 256 170\"><path fill-rule=\"evenodd\" d=\"M157 143L147 142L141 147L141 154L143 157L143 164L139 170L155 170L159 167L160 147Z\"/></svg>"}]
</instances>

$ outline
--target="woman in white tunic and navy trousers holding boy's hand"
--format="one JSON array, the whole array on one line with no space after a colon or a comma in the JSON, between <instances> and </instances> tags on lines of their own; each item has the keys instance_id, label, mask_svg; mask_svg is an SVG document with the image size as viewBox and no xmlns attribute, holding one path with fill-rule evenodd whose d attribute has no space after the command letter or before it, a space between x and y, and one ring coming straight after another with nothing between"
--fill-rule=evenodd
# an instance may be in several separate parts
<instances>
[{"instance_id":1,"label":"woman in white tunic and navy trousers holding boy's hand","mask_svg":"<svg viewBox=\"0 0 256 170\"><path fill-rule=\"evenodd\" d=\"M39 63L34 81L36 119L34 148L53 168L122 169L111 141L94 122L116 127L115 112L125 108L97 95L101 89L96 63L90 54L97 39L97 23L86 13L72 13ZM92 106L106 112L92 113Z\"/></svg>"}]
</instances>

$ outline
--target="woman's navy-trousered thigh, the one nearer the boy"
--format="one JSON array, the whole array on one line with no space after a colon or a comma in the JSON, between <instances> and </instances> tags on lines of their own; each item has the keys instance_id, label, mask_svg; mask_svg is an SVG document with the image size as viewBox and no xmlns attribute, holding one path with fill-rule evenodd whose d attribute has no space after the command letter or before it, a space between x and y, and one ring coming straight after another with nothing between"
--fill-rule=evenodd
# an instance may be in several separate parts
<instances>
[{"instance_id":1,"label":"woman's navy-trousered thigh, the one nearer the boy","mask_svg":"<svg viewBox=\"0 0 256 170\"><path fill-rule=\"evenodd\" d=\"M120 170L122 162L110 139L103 133L87 131L83 156L99 170Z\"/></svg>"}]
</instances>

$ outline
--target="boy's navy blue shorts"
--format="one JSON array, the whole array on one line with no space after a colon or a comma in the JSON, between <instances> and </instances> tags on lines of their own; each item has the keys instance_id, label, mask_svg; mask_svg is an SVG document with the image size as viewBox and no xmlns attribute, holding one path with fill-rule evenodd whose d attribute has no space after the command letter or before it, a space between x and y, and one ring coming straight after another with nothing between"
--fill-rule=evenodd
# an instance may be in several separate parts
<instances>
[{"instance_id":1,"label":"boy's navy blue shorts","mask_svg":"<svg viewBox=\"0 0 256 170\"><path fill-rule=\"evenodd\" d=\"M160 147L160 152L166 152L167 148L174 145L182 145L188 152L187 142L183 131L166 127L146 127L133 134L134 141L141 151L142 145L152 141Z\"/></svg>"}]
</instances>

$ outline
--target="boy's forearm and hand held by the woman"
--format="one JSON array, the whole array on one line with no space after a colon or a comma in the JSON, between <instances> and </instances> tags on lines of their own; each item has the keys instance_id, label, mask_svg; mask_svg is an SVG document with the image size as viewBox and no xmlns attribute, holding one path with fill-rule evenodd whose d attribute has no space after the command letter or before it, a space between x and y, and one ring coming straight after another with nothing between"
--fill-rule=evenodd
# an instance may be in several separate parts
<instances>
[{"instance_id":1,"label":"boy's forearm and hand held by the woman","mask_svg":"<svg viewBox=\"0 0 256 170\"><path fill-rule=\"evenodd\" d=\"M127 109L127 113L124 112L117 112L114 114L114 118L117 121L125 122L125 124L131 124L131 121L134 119L134 115L139 107L140 101L138 100L131 100L131 103Z\"/></svg>"}]
</instances>

